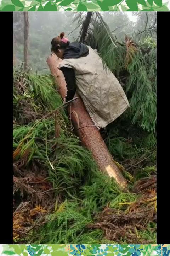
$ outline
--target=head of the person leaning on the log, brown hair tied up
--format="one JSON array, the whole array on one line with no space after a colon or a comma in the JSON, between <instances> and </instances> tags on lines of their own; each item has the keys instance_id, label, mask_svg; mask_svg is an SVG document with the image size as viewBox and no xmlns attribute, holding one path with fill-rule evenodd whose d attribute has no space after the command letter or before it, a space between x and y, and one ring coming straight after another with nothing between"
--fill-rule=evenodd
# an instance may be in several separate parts
<instances>
[{"instance_id":1,"label":"head of the person leaning on the log, brown hair tied up","mask_svg":"<svg viewBox=\"0 0 170 256\"><path fill-rule=\"evenodd\" d=\"M64 37L64 32L52 39L51 41L51 51L57 55L58 58L63 57L63 53L69 46L69 40Z\"/></svg>"}]
</instances>

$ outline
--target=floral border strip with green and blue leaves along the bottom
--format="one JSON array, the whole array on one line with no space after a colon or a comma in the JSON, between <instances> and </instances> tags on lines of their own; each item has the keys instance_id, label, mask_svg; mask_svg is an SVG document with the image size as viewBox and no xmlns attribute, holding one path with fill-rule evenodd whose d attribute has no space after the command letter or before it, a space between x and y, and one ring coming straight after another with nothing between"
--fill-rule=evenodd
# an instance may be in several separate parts
<instances>
[{"instance_id":1,"label":"floral border strip with green and blue leaves along the bottom","mask_svg":"<svg viewBox=\"0 0 170 256\"><path fill-rule=\"evenodd\" d=\"M1 245L1 256L169 256L170 245L20 244Z\"/></svg>"}]
</instances>

